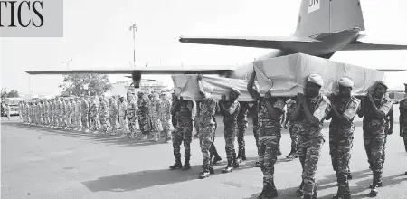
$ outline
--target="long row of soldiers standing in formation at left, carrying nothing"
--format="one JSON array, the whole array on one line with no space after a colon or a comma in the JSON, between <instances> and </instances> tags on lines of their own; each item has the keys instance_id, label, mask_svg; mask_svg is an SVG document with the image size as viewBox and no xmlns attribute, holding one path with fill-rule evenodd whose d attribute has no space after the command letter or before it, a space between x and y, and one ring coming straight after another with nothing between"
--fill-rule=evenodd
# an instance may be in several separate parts
<instances>
[{"instance_id":1,"label":"long row of soldiers standing in formation at left, carrying nothing","mask_svg":"<svg viewBox=\"0 0 407 199\"><path fill-rule=\"evenodd\" d=\"M166 93L161 93L160 100L157 93L153 92L147 98L147 94L138 92L138 100L134 94L128 93L127 101L124 97L109 97L109 101L104 97L96 96L70 97L69 100L56 98L54 100L40 100L35 103L23 101L19 109L23 115L24 123L52 128L64 128L83 131L89 130L98 133L98 128L102 133L108 131L109 125L112 128L110 135L115 135L118 131L117 121L121 130L121 137L136 138L138 118L139 127L142 133L140 139L146 140L149 132L153 132L152 141L158 141L160 132L164 131L166 142L171 140L170 130L170 106L171 101L166 97Z\"/></svg>"}]
</instances>

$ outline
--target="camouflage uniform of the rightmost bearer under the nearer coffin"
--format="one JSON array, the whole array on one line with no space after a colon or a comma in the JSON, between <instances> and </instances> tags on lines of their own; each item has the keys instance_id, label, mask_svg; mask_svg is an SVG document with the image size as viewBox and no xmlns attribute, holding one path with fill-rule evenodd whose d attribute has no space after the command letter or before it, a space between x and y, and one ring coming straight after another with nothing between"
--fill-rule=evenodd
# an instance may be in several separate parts
<instances>
[{"instance_id":1,"label":"camouflage uniform of the rightmost bearer under the nearer coffin","mask_svg":"<svg viewBox=\"0 0 407 199\"><path fill-rule=\"evenodd\" d=\"M392 109L393 103L387 97L382 99L373 99L377 109L387 115ZM374 173L374 183L379 185L382 179L383 169L383 143L384 143L384 118L374 119L373 109L370 101L365 99L364 103L364 149L366 150L367 159L371 170ZM375 186L375 185L374 185Z\"/></svg>"}]
</instances>

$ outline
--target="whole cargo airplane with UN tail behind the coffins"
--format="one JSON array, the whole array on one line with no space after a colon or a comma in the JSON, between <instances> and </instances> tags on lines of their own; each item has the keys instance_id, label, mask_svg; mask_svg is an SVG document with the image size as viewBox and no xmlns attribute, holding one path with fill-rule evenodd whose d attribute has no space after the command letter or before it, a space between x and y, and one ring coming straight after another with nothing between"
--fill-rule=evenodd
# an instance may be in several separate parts
<instances>
[{"instance_id":1,"label":"whole cargo airplane with UN tail behind the coffins","mask_svg":"<svg viewBox=\"0 0 407 199\"><path fill-rule=\"evenodd\" d=\"M305 53L329 59L337 51L407 50L407 43L372 43L360 32L364 18L360 0L302 0L298 24L292 36L285 37L181 37L181 43L199 43L273 49L257 60L294 53ZM26 71L28 74L131 74L133 85L139 87L141 74L219 74L226 78L248 79L252 62L241 66L151 67L127 69L92 69L68 71ZM377 69L380 71L405 71Z\"/></svg>"}]
</instances>

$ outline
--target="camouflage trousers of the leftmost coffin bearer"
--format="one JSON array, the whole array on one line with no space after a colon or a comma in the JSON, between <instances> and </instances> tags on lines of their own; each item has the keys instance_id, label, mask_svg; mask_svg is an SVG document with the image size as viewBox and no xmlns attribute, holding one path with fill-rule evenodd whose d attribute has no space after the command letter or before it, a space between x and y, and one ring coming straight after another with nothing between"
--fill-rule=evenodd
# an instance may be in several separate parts
<instances>
[{"instance_id":1,"label":"camouflage trousers of the leftmost coffin bearer","mask_svg":"<svg viewBox=\"0 0 407 199\"><path fill-rule=\"evenodd\" d=\"M191 156L192 122L190 124L177 124L173 132L173 148L175 158L181 158L181 143L184 142L185 158Z\"/></svg>"}]
</instances>

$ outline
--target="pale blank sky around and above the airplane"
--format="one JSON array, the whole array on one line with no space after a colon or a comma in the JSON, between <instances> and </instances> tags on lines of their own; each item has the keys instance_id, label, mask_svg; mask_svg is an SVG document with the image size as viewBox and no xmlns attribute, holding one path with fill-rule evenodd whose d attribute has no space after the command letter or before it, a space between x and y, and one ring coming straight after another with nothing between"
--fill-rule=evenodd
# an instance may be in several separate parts
<instances>
[{"instance_id":1,"label":"pale blank sky around and above the airplane","mask_svg":"<svg viewBox=\"0 0 407 199\"><path fill-rule=\"evenodd\" d=\"M361 0L367 34L379 41L407 43L407 1ZM289 36L295 31L298 0L69 0L64 1L62 38L0 38L1 87L58 94L61 75L24 71L124 68L136 65L237 65L267 49L179 43L184 36ZM72 59L69 65L62 62ZM372 69L406 69L407 51L336 52L331 60ZM391 89L402 90L407 72L388 73ZM126 81L110 75L110 81ZM170 76L146 75L172 84Z\"/></svg>"}]
</instances>

